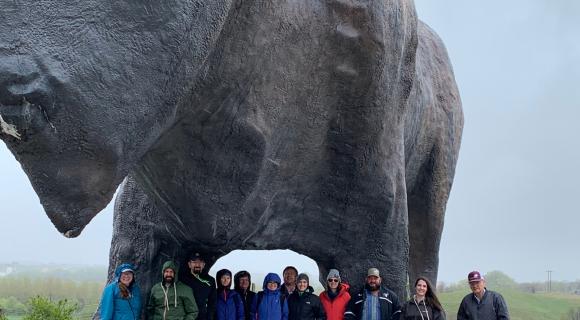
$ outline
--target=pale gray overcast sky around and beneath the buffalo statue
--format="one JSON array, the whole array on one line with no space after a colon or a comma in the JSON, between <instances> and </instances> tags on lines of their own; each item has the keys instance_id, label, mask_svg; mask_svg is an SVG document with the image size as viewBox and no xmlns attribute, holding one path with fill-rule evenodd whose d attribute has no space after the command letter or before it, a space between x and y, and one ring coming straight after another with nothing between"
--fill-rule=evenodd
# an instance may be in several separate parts
<instances>
[{"instance_id":1,"label":"pale gray overcast sky around and beneath the buffalo statue","mask_svg":"<svg viewBox=\"0 0 580 320\"><path fill-rule=\"evenodd\" d=\"M580 1L415 3L447 46L465 113L439 279L472 269L580 279ZM0 179L0 262L107 264L111 206L65 239L3 143ZM278 262L266 264L271 255ZM312 260L284 251L230 255L214 271L281 272L286 262L317 273Z\"/></svg>"}]
</instances>

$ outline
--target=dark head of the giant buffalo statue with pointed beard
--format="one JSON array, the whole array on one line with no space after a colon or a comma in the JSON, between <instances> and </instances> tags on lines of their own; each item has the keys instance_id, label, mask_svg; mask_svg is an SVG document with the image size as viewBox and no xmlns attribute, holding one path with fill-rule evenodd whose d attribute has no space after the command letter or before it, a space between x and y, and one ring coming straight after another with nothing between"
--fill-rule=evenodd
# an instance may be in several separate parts
<instances>
[{"instance_id":1,"label":"dark head of the giant buffalo statue with pointed beard","mask_svg":"<svg viewBox=\"0 0 580 320\"><path fill-rule=\"evenodd\" d=\"M75 237L171 127L222 1L0 0L0 138Z\"/></svg>"}]
</instances>

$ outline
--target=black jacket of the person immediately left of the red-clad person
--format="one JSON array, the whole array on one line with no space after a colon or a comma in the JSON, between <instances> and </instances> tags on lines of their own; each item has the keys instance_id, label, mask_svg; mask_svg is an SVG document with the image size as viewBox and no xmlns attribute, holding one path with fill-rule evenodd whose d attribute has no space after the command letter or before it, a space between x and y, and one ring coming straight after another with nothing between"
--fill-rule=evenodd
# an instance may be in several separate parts
<instances>
[{"instance_id":1,"label":"black jacket of the person immediately left of the red-clad person","mask_svg":"<svg viewBox=\"0 0 580 320\"><path fill-rule=\"evenodd\" d=\"M289 320L326 320L324 307L320 298L314 294L310 286L304 292L298 288L288 297Z\"/></svg>"}]
</instances>

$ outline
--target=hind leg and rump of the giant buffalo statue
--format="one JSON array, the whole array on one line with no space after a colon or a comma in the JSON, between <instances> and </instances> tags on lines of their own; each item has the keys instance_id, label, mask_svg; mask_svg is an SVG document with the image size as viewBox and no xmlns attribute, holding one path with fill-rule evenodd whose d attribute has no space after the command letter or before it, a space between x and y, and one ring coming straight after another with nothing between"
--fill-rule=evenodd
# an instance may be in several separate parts
<instances>
[{"instance_id":1,"label":"hind leg and rump of the giant buffalo statue","mask_svg":"<svg viewBox=\"0 0 580 320\"><path fill-rule=\"evenodd\" d=\"M424 125L405 137L411 286L418 276L437 283L443 220L463 129L461 100L445 46L424 23L419 22L417 32L417 76L409 110L421 114ZM412 127L412 121L408 118L406 127Z\"/></svg>"}]
</instances>

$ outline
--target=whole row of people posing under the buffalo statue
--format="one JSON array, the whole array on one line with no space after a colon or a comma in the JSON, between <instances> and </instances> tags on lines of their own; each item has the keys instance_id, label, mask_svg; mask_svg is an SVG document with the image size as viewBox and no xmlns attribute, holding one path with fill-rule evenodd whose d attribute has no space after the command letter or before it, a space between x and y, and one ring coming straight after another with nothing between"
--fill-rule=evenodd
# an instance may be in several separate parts
<instances>
[{"instance_id":1,"label":"whole row of people posing under the buffalo statue","mask_svg":"<svg viewBox=\"0 0 580 320\"><path fill-rule=\"evenodd\" d=\"M205 272L205 260L191 255L189 272L178 280L178 268L167 261L161 270L162 281L151 288L145 306L147 320L445 320L445 311L429 279L414 282L415 294L403 304L397 295L382 285L380 271L370 268L364 288L350 293L340 272L330 269L326 290L317 296L305 273L288 266L282 279L268 273L262 290L251 290L247 271L222 269L216 280ZM234 288L232 289L232 282ZM509 320L503 297L487 290L478 271L470 272L472 293L465 296L458 320ZM113 281L103 291L101 320L137 320L141 316L141 293L135 283L135 267L122 264Z\"/></svg>"}]
</instances>

